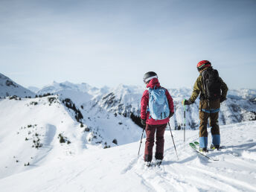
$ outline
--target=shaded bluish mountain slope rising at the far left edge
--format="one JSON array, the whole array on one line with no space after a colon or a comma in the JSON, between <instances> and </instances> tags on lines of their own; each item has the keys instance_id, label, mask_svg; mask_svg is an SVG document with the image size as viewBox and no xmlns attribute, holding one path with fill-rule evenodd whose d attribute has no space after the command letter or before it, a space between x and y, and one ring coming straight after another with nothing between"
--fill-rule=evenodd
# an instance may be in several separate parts
<instances>
[{"instance_id":1,"label":"shaded bluish mountain slope rising at the far left edge","mask_svg":"<svg viewBox=\"0 0 256 192\"><path fill-rule=\"evenodd\" d=\"M10 80L10 78L4 76L4 74L0 73L0 97L7 97L11 95L16 95L18 97L35 96L35 94L30 90L25 89L13 80Z\"/></svg>"}]
</instances>

